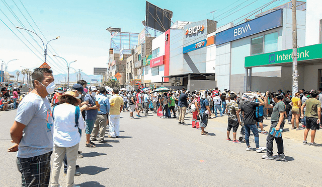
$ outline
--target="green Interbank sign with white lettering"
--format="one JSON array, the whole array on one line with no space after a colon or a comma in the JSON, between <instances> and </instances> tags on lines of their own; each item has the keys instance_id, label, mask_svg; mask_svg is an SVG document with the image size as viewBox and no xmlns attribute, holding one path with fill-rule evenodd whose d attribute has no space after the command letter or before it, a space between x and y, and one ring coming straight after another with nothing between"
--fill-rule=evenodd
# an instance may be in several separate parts
<instances>
[{"instance_id":1,"label":"green Interbank sign with white lettering","mask_svg":"<svg viewBox=\"0 0 322 187\"><path fill-rule=\"evenodd\" d=\"M245 57L245 68L272 66L283 63L291 63L293 49L281 50L265 54ZM297 49L297 61L322 58L322 44L299 47Z\"/></svg>"}]
</instances>

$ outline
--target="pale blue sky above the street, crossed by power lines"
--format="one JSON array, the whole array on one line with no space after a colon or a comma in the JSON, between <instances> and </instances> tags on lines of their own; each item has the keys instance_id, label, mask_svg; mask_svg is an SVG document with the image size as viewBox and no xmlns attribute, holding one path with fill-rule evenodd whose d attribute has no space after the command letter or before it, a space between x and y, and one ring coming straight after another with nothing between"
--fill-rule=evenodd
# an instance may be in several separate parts
<instances>
[{"instance_id":1,"label":"pale blue sky above the street, crossed by power lines","mask_svg":"<svg viewBox=\"0 0 322 187\"><path fill-rule=\"evenodd\" d=\"M32 30L32 26L36 30L37 34L42 38L43 36L27 14L20 1L26 7L47 40L60 36L58 40L50 42L52 47L48 46L48 49L50 50L48 52L48 56L51 56L55 61L54 63L54 61L49 57L47 58L49 65L53 68L52 70L54 71L54 74L65 73L67 70L65 62L55 59L52 54L58 54L61 57L64 57L68 62L77 60L76 63L71 65L71 67L74 69L81 69L88 75L93 74L94 67L106 67L108 51L110 48L110 33L106 31L106 28L112 26L122 28L122 31L124 32L140 32L143 29L141 21L145 20L145 1L0 1L0 10L8 16L15 26L21 27L21 24L5 6L6 3L27 29ZM217 24L217 27L219 27L271 2L271 0L153 0L149 2L160 8L173 11L173 22L177 20L195 22L204 19L212 19L212 14L209 13L216 10L214 17L216 21L220 20ZM264 10L274 8L287 2L289 2L289 0L276 1ZM16 3L20 11L22 11L31 26L14 3ZM241 5L234 10L229 11L239 4ZM245 6L247 7L241 9ZM241 10L237 11L239 9ZM225 13L226 11L229 12ZM237 12L231 14L235 11ZM23 68L20 66L26 68L39 67L43 63L42 47L39 47L26 31L20 30L36 49L33 48L32 45L23 38L13 24L10 23L5 15L0 11L0 19L2 19L36 54L38 54L41 59L33 54L1 21L0 59L7 62L11 59L19 58L19 60L12 61L9 64L9 72L22 70ZM239 22L241 19L245 19L247 16L240 18L234 23ZM254 16L250 18L254 18ZM40 39L35 35L33 36L42 46ZM57 53L55 53L52 48ZM55 65L56 63L59 65ZM71 70L71 73L73 72L74 71Z\"/></svg>"}]
</instances>

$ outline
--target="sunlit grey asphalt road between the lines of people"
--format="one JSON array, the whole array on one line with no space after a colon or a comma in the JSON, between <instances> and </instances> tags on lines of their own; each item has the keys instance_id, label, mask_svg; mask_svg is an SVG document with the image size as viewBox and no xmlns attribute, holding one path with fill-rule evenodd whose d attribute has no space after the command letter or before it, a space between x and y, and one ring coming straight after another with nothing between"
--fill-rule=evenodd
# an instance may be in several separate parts
<instances>
[{"instance_id":1,"label":"sunlit grey asphalt road between the lines of people","mask_svg":"<svg viewBox=\"0 0 322 187\"><path fill-rule=\"evenodd\" d=\"M0 112L2 131L0 157L1 186L21 186L16 153L9 153L9 130L16 111ZM246 144L226 142L226 120L209 120L209 136L191 125L181 126L176 119L162 119L155 114L129 119L121 114L120 138L85 147L82 137L78 159L81 186L320 186L322 182L322 147L303 145L300 140L284 138L287 161L264 160ZM186 115L191 123L191 115ZM266 127L268 130L268 127ZM238 130L239 132L239 130ZM108 134L106 134L107 136ZM320 134L318 134L320 135ZM237 133L239 137L239 133ZM232 138L232 135L230 136ZM37 138L37 137L35 137ZM40 140L41 141L41 140ZM266 146L266 135L260 135ZM255 143L251 141L251 146ZM274 144L274 153L277 146ZM65 177L60 183L65 186Z\"/></svg>"}]
</instances>

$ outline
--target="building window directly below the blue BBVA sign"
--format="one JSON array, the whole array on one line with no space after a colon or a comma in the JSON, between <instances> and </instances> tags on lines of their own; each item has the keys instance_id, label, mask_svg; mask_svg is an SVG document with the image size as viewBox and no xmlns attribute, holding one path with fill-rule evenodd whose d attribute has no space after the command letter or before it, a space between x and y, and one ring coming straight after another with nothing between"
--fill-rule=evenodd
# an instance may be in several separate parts
<instances>
[{"instance_id":1,"label":"building window directly below the blue BBVA sign","mask_svg":"<svg viewBox=\"0 0 322 187\"><path fill-rule=\"evenodd\" d=\"M251 55L278 50L278 32L252 38Z\"/></svg>"}]
</instances>

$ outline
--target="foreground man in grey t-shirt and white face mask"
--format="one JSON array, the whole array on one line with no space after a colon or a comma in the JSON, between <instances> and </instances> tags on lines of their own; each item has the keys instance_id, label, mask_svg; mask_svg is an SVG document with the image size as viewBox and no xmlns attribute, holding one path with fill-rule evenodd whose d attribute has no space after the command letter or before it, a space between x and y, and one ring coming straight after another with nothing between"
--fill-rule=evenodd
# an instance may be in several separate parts
<instances>
[{"instance_id":1,"label":"foreground man in grey t-shirt and white face mask","mask_svg":"<svg viewBox=\"0 0 322 187\"><path fill-rule=\"evenodd\" d=\"M10 129L12 142L16 144L8 151L18 151L17 166L22 174L22 186L48 186L53 151L53 119L46 96L55 90L52 71L36 68L32 73L32 84L34 89L18 106Z\"/></svg>"}]
</instances>

